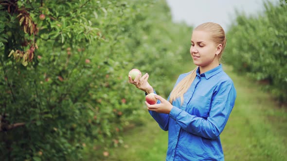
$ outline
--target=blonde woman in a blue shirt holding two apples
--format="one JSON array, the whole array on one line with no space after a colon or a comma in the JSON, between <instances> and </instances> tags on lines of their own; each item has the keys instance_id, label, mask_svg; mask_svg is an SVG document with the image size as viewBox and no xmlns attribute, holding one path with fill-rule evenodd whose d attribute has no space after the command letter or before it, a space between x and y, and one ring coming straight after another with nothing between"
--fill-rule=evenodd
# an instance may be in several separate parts
<instances>
[{"instance_id":1,"label":"blonde woman in a blue shirt holding two apples","mask_svg":"<svg viewBox=\"0 0 287 161\"><path fill-rule=\"evenodd\" d=\"M197 26L190 54L195 70L179 75L167 100L145 102L161 129L168 130L166 161L224 161L219 134L233 109L236 91L219 64L226 37L222 27L208 22ZM129 82L147 93L156 93L148 74Z\"/></svg>"}]
</instances>

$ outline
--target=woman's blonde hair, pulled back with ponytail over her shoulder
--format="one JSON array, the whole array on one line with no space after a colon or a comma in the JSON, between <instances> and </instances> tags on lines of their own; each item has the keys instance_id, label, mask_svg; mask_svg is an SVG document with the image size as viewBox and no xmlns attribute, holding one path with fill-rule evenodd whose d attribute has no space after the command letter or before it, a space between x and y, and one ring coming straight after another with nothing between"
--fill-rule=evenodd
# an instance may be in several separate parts
<instances>
[{"instance_id":1,"label":"woman's blonde hair, pulled back with ponytail over her shoulder","mask_svg":"<svg viewBox=\"0 0 287 161\"><path fill-rule=\"evenodd\" d=\"M214 41L215 45L222 45L222 49L220 53L217 55L218 60L220 60L221 55L223 53L223 50L226 46L226 36L223 28L213 22L207 22L203 23L199 26L197 26L194 31L206 31L211 33L211 38ZM183 78L179 83L176 85L176 87L171 91L170 97L169 97L169 102L172 103L172 101L176 100L176 98L180 97L181 100L181 105L183 103L183 94L187 92L189 89L191 83L195 80L197 76L197 68L198 66L191 71L185 78Z\"/></svg>"}]
</instances>

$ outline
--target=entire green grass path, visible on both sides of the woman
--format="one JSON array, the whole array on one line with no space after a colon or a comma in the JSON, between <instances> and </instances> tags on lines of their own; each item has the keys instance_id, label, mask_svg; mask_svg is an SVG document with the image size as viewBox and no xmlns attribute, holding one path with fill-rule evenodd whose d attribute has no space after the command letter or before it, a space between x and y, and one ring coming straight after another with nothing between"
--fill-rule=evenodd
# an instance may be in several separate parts
<instances>
[{"instance_id":1,"label":"entire green grass path, visible on both sides of the woman","mask_svg":"<svg viewBox=\"0 0 287 161\"><path fill-rule=\"evenodd\" d=\"M220 135L226 161L287 161L287 107L260 85L224 68L237 91L235 107ZM124 144L106 161L165 161L167 132L148 112L143 126L126 131Z\"/></svg>"}]
</instances>

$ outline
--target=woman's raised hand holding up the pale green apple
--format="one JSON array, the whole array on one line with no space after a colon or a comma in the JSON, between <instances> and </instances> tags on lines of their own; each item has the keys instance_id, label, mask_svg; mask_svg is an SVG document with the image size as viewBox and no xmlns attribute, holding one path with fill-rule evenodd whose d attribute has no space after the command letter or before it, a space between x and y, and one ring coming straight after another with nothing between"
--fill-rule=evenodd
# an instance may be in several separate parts
<instances>
[{"instance_id":1,"label":"woman's raised hand holding up the pale green apple","mask_svg":"<svg viewBox=\"0 0 287 161\"><path fill-rule=\"evenodd\" d=\"M131 79L131 76L128 76L128 81L144 92L153 93L153 88L147 81L148 77L149 75L147 73L145 73L143 77L142 74L139 74L134 80Z\"/></svg>"}]
</instances>

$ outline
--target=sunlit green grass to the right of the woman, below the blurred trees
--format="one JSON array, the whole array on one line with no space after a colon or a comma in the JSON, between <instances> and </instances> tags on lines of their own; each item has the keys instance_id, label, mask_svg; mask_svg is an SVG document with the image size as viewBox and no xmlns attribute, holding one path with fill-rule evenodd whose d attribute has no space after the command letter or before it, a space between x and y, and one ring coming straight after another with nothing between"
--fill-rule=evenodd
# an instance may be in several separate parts
<instances>
[{"instance_id":1,"label":"sunlit green grass to the right of the woman, below the blurred trees","mask_svg":"<svg viewBox=\"0 0 287 161\"><path fill-rule=\"evenodd\" d=\"M226 161L286 161L287 109L261 85L226 69L237 91L235 107L221 134Z\"/></svg>"}]
</instances>

